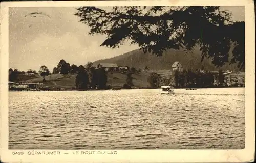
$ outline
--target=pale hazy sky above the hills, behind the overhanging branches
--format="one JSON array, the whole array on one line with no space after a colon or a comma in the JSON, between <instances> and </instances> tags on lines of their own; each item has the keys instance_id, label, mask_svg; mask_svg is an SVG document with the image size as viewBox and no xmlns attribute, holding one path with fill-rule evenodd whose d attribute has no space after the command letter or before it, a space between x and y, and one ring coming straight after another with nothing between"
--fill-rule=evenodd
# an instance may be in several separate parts
<instances>
[{"instance_id":1,"label":"pale hazy sky above the hills, behind the overhanging branches","mask_svg":"<svg viewBox=\"0 0 256 163\"><path fill-rule=\"evenodd\" d=\"M245 20L244 7L221 9L231 11L232 20ZM47 16L25 16L32 12ZM139 48L130 44L115 49L100 46L106 36L88 35L89 27L79 22L75 12L74 7L9 8L9 68L38 71L45 65L52 71L61 59L79 66Z\"/></svg>"}]
</instances>

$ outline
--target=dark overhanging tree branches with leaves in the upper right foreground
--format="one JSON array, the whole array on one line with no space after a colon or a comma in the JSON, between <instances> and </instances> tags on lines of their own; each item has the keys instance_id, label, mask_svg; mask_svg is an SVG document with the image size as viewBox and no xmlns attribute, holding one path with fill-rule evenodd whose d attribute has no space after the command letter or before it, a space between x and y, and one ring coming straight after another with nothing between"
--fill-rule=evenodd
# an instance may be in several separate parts
<instances>
[{"instance_id":1,"label":"dark overhanging tree branches with leaves in the upper right foreground","mask_svg":"<svg viewBox=\"0 0 256 163\"><path fill-rule=\"evenodd\" d=\"M89 25L89 34L108 37L101 46L116 48L130 41L161 56L166 49L190 51L199 45L202 60L211 58L217 67L236 62L240 68L245 66L245 22L232 22L231 13L219 6L134 6L111 11L79 7L75 15ZM231 44L235 48L229 56Z\"/></svg>"}]
</instances>

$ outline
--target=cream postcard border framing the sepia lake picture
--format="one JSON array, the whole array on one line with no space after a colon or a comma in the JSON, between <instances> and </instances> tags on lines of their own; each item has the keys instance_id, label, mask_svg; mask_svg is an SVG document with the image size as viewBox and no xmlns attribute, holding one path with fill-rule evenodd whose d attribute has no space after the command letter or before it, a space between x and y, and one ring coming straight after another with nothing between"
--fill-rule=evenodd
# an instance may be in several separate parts
<instances>
[{"instance_id":1,"label":"cream postcard border framing the sepia lake picture","mask_svg":"<svg viewBox=\"0 0 256 163\"><path fill-rule=\"evenodd\" d=\"M8 150L8 7L79 7L79 6L245 6L246 73L245 73L245 149L242 150ZM254 72L255 26L253 1L62 1L1 2L1 151L3 162L244 162L254 158ZM35 152L51 152L38 155ZM54 154L54 151L56 154ZM105 151L112 154L81 154ZM114 154L115 151L117 154ZM13 155L13 152L24 152ZM30 152L30 154L28 153ZM60 152L60 154L57 154ZM79 154L76 154L78 152ZM69 153L69 154L64 154Z\"/></svg>"}]
</instances>

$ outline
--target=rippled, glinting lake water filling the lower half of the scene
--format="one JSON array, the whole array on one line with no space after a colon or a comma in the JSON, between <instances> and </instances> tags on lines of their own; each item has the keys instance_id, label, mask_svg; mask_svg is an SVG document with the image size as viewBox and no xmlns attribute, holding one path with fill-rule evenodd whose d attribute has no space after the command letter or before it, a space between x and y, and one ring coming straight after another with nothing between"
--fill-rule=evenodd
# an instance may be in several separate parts
<instances>
[{"instance_id":1,"label":"rippled, glinting lake water filling the lower half of the scene","mask_svg":"<svg viewBox=\"0 0 256 163\"><path fill-rule=\"evenodd\" d=\"M9 92L9 149L243 149L245 89Z\"/></svg>"}]
</instances>

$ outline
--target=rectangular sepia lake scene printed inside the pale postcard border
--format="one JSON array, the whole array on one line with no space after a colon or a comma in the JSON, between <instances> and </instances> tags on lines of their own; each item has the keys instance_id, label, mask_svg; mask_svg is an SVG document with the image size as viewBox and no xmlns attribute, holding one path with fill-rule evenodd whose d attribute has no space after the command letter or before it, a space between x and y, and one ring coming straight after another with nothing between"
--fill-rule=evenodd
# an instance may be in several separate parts
<instances>
[{"instance_id":1,"label":"rectangular sepia lake scene printed inside the pale postcard border","mask_svg":"<svg viewBox=\"0 0 256 163\"><path fill-rule=\"evenodd\" d=\"M7 14L9 150L245 149L245 6Z\"/></svg>"}]
</instances>

